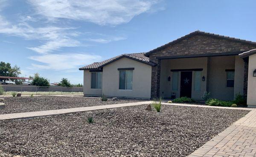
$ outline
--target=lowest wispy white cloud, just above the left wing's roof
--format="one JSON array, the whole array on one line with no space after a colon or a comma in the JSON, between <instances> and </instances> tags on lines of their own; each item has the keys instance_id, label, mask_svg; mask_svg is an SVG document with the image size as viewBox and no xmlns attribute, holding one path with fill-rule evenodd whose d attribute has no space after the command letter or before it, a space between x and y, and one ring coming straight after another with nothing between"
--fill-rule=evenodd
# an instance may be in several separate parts
<instances>
[{"instance_id":1,"label":"lowest wispy white cloud, just above the left wing's roof","mask_svg":"<svg viewBox=\"0 0 256 157\"><path fill-rule=\"evenodd\" d=\"M42 64L32 64L29 69L52 69L68 70L78 69L79 66L99 62L102 57L94 54L68 53L68 54L45 54L29 57L31 60Z\"/></svg>"}]
</instances>

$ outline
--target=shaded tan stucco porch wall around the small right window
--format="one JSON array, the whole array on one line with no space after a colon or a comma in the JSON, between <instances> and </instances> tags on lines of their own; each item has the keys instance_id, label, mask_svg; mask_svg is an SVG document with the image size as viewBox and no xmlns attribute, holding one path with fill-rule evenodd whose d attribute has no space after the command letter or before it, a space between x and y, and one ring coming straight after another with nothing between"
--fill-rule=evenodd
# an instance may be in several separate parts
<instances>
[{"instance_id":1,"label":"shaded tan stucco porch wall around the small right window","mask_svg":"<svg viewBox=\"0 0 256 157\"><path fill-rule=\"evenodd\" d=\"M234 98L234 88L226 87L226 69L235 69L235 56L209 57L208 91L212 98L220 100Z\"/></svg>"}]
</instances>

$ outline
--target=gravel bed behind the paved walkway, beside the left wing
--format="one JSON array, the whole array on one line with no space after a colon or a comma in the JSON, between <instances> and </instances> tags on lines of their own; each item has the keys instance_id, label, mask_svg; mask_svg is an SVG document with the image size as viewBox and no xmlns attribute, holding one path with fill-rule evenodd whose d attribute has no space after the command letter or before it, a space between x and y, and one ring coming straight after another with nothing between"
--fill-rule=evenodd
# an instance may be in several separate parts
<instances>
[{"instance_id":1,"label":"gravel bed behind the paved walkway, beside the left wing","mask_svg":"<svg viewBox=\"0 0 256 157\"><path fill-rule=\"evenodd\" d=\"M63 108L76 108L86 106L100 106L119 103L134 103L139 100L102 101L99 98L87 97L60 97L60 96L36 96L36 97L1 97L4 98L6 108L0 108L0 114L45 111Z\"/></svg>"}]
</instances>

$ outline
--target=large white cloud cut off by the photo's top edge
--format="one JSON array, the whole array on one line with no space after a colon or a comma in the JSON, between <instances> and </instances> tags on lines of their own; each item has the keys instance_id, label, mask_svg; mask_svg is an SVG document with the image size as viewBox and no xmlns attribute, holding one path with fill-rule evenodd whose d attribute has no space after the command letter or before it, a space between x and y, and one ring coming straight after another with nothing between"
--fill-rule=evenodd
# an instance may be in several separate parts
<instances>
[{"instance_id":1,"label":"large white cloud cut off by the photo's top edge","mask_svg":"<svg viewBox=\"0 0 256 157\"><path fill-rule=\"evenodd\" d=\"M67 18L99 25L128 23L160 0L28 0L49 20Z\"/></svg>"}]
</instances>

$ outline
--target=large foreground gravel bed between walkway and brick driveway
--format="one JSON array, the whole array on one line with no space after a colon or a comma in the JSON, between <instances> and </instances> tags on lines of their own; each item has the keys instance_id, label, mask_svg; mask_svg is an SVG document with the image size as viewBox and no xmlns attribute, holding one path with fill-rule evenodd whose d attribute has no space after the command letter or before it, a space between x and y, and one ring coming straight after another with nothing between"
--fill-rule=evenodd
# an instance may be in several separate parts
<instances>
[{"instance_id":1,"label":"large foreground gravel bed between walkway and brick driveway","mask_svg":"<svg viewBox=\"0 0 256 157\"><path fill-rule=\"evenodd\" d=\"M130 106L2 120L1 154L5 157L184 157L249 112L163 105L157 113L145 108L146 105ZM93 124L87 123L90 116L94 118Z\"/></svg>"}]
</instances>

